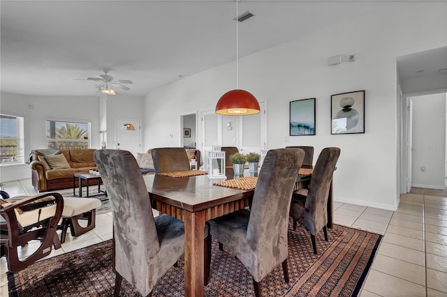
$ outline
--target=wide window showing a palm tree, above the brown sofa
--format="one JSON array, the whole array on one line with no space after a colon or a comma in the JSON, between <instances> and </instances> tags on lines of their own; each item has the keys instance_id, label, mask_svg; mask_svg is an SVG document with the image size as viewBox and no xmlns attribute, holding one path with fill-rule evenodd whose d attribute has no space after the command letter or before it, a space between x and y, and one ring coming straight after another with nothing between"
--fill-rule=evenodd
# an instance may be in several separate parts
<instances>
[{"instance_id":1,"label":"wide window showing a palm tree, above the brown sofa","mask_svg":"<svg viewBox=\"0 0 447 297\"><path fill-rule=\"evenodd\" d=\"M89 148L90 123L47 120L46 130L48 148Z\"/></svg>"}]
</instances>

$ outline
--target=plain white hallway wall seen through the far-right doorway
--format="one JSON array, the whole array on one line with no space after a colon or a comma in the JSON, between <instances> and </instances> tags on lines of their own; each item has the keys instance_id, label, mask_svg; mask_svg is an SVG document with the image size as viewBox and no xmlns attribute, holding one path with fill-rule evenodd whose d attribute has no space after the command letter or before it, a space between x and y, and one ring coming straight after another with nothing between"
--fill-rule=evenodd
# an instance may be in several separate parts
<instances>
[{"instance_id":1,"label":"plain white hallway wall seen through the far-right doorway","mask_svg":"<svg viewBox=\"0 0 447 297\"><path fill-rule=\"evenodd\" d=\"M444 190L446 94L413 97L412 101L412 186Z\"/></svg>"}]
</instances>

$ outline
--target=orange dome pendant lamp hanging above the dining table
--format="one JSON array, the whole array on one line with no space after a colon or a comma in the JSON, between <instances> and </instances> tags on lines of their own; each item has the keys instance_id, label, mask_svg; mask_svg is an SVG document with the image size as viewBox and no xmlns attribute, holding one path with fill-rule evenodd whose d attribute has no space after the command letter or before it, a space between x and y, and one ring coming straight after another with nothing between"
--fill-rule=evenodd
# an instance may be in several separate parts
<instances>
[{"instance_id":1,"label":"orange dome pendant lamp hanging above the dining table","mask_svg":"<svg viewBox=\"0 0 447 297\"><path fill-rule=\"evenodd\" d=\"M226 116L248 116L249 114L257 114L260 112L258 100L250 92L237 88L238 73L239 73L239 30L238 22L239 12L238 3L240 0L236 0L236 89L228 91L223 94L216 105L216 113Z\"/></svg>"}]
</instances>

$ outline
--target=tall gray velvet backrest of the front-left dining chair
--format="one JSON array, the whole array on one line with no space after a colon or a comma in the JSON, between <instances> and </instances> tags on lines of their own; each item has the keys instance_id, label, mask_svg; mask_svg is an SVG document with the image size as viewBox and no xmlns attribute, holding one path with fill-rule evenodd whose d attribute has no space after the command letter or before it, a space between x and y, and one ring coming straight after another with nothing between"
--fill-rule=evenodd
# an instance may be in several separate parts
<instances>
[{"instance_id":1,"label":"tall gray velvet backrest of the front-left dining chair","mask_svg":"<svg viewBox=\"0 0 447 297\"><path fill-rule=\"evenodd\" d=\"M140 168L133 155L124 150L97 150L94 160L112 208L115 270L138 291L152 291L147 284L151 280L148 267L160 245Z\"/></svg>"}]
</instances>

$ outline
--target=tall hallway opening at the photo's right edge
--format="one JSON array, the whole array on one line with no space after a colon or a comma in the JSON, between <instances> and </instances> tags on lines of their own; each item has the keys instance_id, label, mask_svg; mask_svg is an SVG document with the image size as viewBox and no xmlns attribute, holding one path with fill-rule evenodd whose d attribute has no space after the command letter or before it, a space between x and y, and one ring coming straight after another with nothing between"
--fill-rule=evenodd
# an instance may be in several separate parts
<instances>
[{"instance_id":1,"label":"tall hallway opening at the photo's right edge","mask_svg":"<svg viewBox=\"0 0 447 297\"><path fill-rule=\"evenodd\" d=\"M439 106L432 108L432 112L435 112L437 119L442 121L436 121L436 129L433 129L430 125L424 129L420 129L418 126L433 122L434 116L425 120L414 119L414 114L411 113L411 98L418 96L431 96L434 94L441 94L447 92L447 47L438 47L423 52L415 52L412 54L406 54L404 56L396 57L397 66L397 102L400 110L397 111L397 118L400 119L400 130L398 131L400 136L400 167L398 172L398 178L400 181L399 192L410 192L411 187L416 187L416 184L422 186L430 186L436 184L436 188L445 188L445 175L447 174L446 157L439 155L445 155L447 138L446 133L439 133L439 128L446 128L446 113L443 110L439 110ZM402 90L403 96L400 96ZM430 106L431 102L425 102L423 107ZM446 103L444 102L444 105ZM419 107L413 105L413 111ZM444 108L443 108L444 109ZM413 119L411 119L413 116ZM425 121L425 123L423 122ZM433 123L434 124L434 123ZM419 130L415 133L414 130ZM434 130L438 130L439 139L429 139L425 143L414 143L414 138L418 135L431 134ZM441 140L439 142L439 140ZM417 141L417 140L416 140ZM420 141L420 140L419 140ZM415 155L419 155L415 159ZM437 155L437 163L433 164L432 156ZM422 156L422 159L421 157ZM424 160L427 156L427 161ZM428 165L427 165L428 164ZM425 169L423 168L425 167ZM445 168L444 168L445 167ZM437 170L437 181L434 183L427 178L429 174L433 174L433 169ZM425 170L425 173L422 171ZM419 176L416 177L416 174ZM425 175L425 179L421 179L420 176ZM442 178L443 181L439 181L438 178ZM414 188L413 188L414 190ZM413 192L411 190L411 192ZM397 196L397 201L399 196Z\"/></svg>"}]
</instances>

